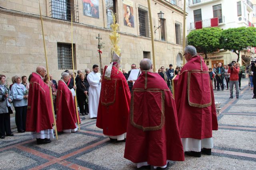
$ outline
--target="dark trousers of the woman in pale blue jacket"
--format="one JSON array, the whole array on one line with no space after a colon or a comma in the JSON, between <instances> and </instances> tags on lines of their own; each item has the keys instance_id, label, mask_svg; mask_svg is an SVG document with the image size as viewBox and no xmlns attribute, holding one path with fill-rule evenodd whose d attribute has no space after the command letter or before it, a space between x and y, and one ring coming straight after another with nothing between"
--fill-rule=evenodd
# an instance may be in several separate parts
<instances>
[{"instance_id":1,"label":"dark trousers of the woman in pale blue jacket","mask_svg":"<svg viewBox=\"0 0 256 170\"><path fill-rule=\"evenodd\" d=\"M19 106L15 108L15 123L18 132L26 131L27 106Z\"/></svg>"}]
</instances>

